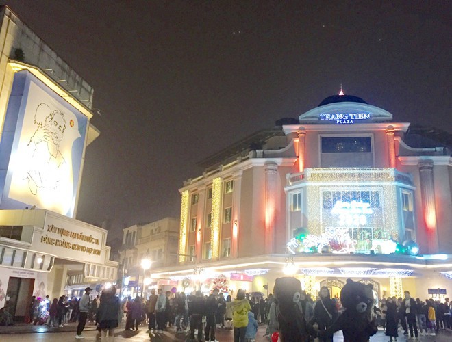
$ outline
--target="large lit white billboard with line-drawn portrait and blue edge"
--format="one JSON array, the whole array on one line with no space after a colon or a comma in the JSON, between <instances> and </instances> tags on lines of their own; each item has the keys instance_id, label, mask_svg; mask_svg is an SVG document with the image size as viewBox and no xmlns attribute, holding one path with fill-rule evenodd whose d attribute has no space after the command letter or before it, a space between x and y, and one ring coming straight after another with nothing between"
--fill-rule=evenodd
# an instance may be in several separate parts
<instances>
[{"instance_id":1,"label":"large lit white billboard with line-drawn portrait and blue edge","mask_svg":"<svg viewBox=\"0 0 452 342\"><path fill-rule=\"evenodd\" d=\"M87 125L29 71L16 73L0 143L0 209L73 217Z\"/></svg>"}]
</instances>

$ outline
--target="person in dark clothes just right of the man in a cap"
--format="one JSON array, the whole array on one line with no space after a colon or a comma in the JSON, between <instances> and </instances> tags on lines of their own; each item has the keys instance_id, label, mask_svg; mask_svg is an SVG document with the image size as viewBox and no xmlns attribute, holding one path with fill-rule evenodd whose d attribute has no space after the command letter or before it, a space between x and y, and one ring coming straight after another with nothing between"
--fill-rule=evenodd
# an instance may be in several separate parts
<instances>
[{"instance_id":1,"label":"person in dark clothes just right of the man in a cap","mask_svg":"<svg viewBox=\"0 0 452 342\"><path fill-rule=\"evenodd\" d=\"M110 289L103 289L101 295L101 304L97 308L96 321L99 324L99 328L104 333L104 337L113 338L114 329L118 326L119 308L121 307L121 301L116 297L116 287L110 287ZM97 339L100 339L101 332L97 334Z\"/></svg>"}]
</instances>

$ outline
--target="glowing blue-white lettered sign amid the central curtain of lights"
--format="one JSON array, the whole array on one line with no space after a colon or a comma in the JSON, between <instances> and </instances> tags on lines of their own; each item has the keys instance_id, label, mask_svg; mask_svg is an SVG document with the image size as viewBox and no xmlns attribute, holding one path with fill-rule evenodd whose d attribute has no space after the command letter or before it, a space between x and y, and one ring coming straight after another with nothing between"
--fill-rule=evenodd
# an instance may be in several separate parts
<instances>
[{"instance_id":1,"label":"glowing blue-white lettered sign amid the central curtain of lights","mask_svg":"<svg viewBox=\"0 0 452 342\"><path fill-rule=\"evenodd\" d=\"M373 210L369 203L338 200L331 213L339 215L339 226L364 226L367 223L366 215L372 214Z\"/></svg>"}]
</instances>

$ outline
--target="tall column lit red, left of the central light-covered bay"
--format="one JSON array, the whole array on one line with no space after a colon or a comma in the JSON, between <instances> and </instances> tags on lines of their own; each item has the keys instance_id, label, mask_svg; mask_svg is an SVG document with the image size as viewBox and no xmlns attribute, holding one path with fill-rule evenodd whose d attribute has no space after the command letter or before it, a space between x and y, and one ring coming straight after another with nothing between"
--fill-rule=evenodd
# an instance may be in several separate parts
<instances>
[{"instance_id":1,"label":"tall column lit red, left of the central light-covered bay","mask_svg":"<svg viewBox=\"0 0 452 342\"><path fill-rule=\"evenodd\" d=\"M278 166L265 164L265 253L273 253L276 224L276 193Z\"/></svg>"}]
</instances>

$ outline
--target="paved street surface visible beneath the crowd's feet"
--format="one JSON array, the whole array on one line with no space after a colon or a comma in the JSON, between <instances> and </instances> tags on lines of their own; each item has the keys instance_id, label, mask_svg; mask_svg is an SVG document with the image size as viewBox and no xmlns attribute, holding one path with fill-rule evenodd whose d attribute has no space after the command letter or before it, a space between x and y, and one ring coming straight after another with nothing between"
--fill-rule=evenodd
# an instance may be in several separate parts
<instances>
[{"instance_id":1,"label":"paved street surface visible beneath the crowd's feet","mask_svg":"<svg viewBox=\"0 0 452 342\"><path fill-rule=\"evenodd\" d=\"M76 324L70 324L64 328L47 328L43 326L32 326L32 325L18 325L12 327L0 327L0 341L51 341L51 342L61 342L61 341L95 341L96 331L94 326L87 326L83 336L85 339L77 340L75 339L75 328ZM125 332L124 328L118 328L116 330L114 341L187 341L187 334L175 334L173 328L168 328L168 331L163 334L155 334L155 336L149 337L146 334L146 328L144 326L140 327L138 332ZM260 326L258 330L258 336L256 337L256 342L269 342L270 339L263 337L265 332L265 326ZM401 334L400 334L401 335ZM218 341L234 341L233 333L231 330L224 330L218 328L216 330L216 339ZM334 342L342 342L342 334L339 332L334 335ZM387 342L388 337L384 336L383 331L379 331L375 336L371 337L371 342ZM397 341L405 342L406 337L402 335L397 339ZM421 342L450 342L452 341L452 331L447 332L440 331L437 336L422 336L419 337L418 341Z\"/></svg>"}]
</instances>

